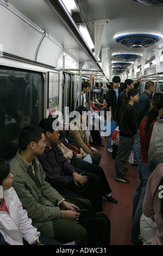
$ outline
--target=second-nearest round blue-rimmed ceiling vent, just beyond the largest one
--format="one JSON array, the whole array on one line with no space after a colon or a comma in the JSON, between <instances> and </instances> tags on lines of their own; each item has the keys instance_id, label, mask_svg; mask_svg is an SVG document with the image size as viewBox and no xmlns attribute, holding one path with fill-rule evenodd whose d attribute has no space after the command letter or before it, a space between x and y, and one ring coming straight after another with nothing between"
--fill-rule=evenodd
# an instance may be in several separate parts
<instances>
[{"instance_id":1,"label":"second-nearest round blue-rimmed ceiling vent, just beyond the largest one","mask_svg":"<svg viewBox=\"0 0 163 256\"><path fill-rule=\"evenodd\" d=\"M114 52L112 53L112 56L116 59L122 60L124 62L126 61L134 61L136 59L142 58L142 53L128 53L128 52Z\"/></svg>"}]
</instances>

